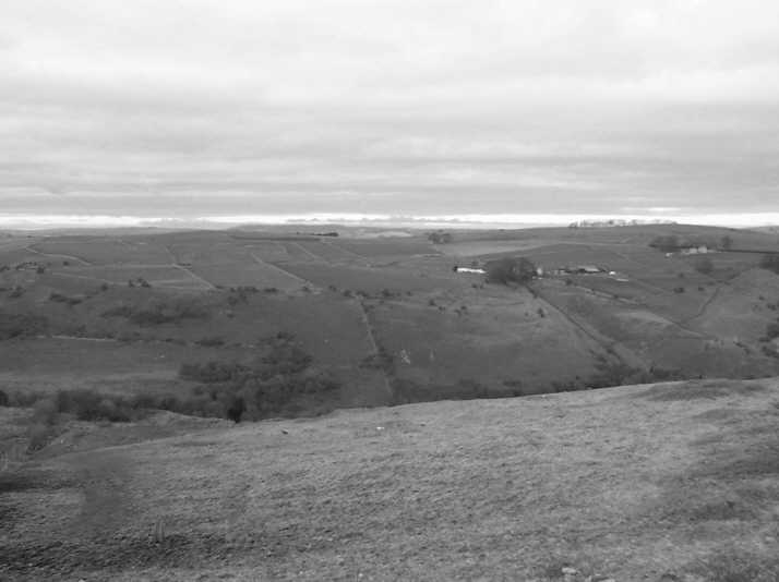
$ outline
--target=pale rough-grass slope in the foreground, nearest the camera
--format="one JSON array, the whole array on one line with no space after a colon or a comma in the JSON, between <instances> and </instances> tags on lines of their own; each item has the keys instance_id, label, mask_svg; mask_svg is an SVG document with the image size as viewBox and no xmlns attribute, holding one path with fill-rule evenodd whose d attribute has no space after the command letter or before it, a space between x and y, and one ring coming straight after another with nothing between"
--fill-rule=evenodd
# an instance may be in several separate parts
<instances>
[{"instance_id":1,"label":"pale rough-grass slope in the foreground, nearest the camera","mask_svg":"<svg viewBox=\"0 0 779 582\"><path fill-rule=\"evenodd\" d=\"M779 578L777 380L166 419L7 466L0 578Z\"/></svg>"}]
</instances>

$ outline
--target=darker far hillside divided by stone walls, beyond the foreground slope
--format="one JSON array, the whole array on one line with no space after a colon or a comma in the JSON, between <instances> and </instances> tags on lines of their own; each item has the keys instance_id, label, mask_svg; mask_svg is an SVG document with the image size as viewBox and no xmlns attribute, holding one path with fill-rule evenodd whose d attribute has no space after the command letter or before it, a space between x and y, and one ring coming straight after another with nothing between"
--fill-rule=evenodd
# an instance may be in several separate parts
<instances>
[{"instance_id":1,"label":"darker far hillside divided by stone walls, beyond the foreground slope","mask_svg":"<svg viewBox=\"0 0 779 582\"><path fill-rule=\"evenodd\" d=\"M779 276L757 267L779 250L772 234L683 225L453 231L442 244L377 234L3 239L0 390L81 378L118 395L169 381L188 397L211 388L178 378L182 364L242 365L278 334L338 379L326 408L779 374ZM704 260L649 246L670 235L712 247L728 238L732 252ZM503 256L546 275L512 287L453 270ZM578 265L602 271L560 272Z\"/></svg>"}]
</instances>

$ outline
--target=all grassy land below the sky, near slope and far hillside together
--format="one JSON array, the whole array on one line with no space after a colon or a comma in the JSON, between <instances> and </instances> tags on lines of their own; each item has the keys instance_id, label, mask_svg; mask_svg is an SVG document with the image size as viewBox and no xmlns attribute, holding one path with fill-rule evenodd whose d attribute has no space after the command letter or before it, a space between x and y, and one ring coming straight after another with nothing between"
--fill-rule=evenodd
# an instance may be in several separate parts
<instances>
[{"instance_id":1,"label":"all grassy land below the sky, near slope and far hillside together","mask_svg":"<svg viewBox=\"0 0 779 582\"><path fill-rule=\"evenodd\" d=\"M0 578L776 580L775 235L434 234L3 238Z\"/></svg>"}]
</instances>

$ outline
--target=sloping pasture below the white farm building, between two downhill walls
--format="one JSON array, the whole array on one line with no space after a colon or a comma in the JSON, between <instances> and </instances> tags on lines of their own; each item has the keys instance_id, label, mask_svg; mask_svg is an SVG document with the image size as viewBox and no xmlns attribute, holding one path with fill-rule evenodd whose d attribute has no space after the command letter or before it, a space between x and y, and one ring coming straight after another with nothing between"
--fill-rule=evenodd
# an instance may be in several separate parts
<instances>
[{"instance_id":1,"label":"sloping pasture below the white farm building, between two downhill walls","mask_svg":"<svg viewBox=\"0 0 779 582\"><path fill-rule=\"evenodd\" d=\"M460 380L506 393L549 391L555 380L592 376L594 355L603 354L602 345L527 291L438 295L434 302L391 300L369 311L395 374L421 393L445 393Z\"/></svg>"}]
</instances>

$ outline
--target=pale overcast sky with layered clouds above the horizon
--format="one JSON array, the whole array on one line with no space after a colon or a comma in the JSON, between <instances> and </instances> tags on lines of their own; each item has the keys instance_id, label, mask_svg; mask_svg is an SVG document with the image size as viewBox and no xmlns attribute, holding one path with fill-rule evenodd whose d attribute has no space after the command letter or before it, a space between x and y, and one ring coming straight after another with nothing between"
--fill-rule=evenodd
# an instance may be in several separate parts
<instances>
[{"instance_id":1,"label":"pale overcast sky with layered clouds above the horizon","mask_svg":"<svg viewBox=\"0 0 779 582\"><path fill-rule=\"evenodd\" d=\"M0 225L290 216L779 223L779 2L0 2Z\"/></svg>"}]
</instances>

